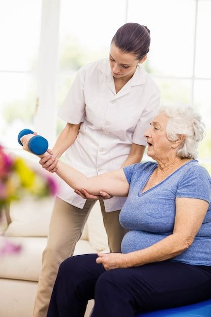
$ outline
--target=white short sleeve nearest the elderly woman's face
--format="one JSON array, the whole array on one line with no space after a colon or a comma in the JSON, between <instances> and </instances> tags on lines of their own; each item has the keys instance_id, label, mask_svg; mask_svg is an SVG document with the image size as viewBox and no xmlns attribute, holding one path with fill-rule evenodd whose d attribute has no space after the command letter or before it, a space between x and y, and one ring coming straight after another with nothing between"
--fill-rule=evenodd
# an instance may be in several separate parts
<instances>
[{"instance_id":1,"label":"white short sleeve nearest the elderly woman's face","mask_svg":"<svg viewBox=\"0 0 211 317\"><path fill-rule=\"evenodd\" d=\"M160 103L160 92L159 90L154 93L151 98L149 99L148 104L146 105L145 109L143 110L139 121L136 125L133 134L133 143L139 145L147 145L146 138L144 137L144 132L147 128L149 128L149 124L154 117L157 108Z\"/></svg>"}]
</instances>

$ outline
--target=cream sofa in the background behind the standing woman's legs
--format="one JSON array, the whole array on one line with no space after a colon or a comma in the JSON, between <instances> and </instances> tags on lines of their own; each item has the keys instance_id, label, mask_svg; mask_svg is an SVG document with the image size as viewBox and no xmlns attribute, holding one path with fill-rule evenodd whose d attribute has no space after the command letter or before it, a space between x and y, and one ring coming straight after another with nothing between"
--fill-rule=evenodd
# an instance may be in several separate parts
<instances>
[{"instance_id":1,"label":"cream sofa in the background behind the standing woman's legs","mask_svg":"<svg viewBox=\"0 0 211 317\"><path fill-rule=\"evenodd\" d=\"M5 221L2 221L5 237L0 237L0 243L3 239L9 239L21 245L21 251L0 258L1 317L32 316L53 203L54 197L42 200L25 197L20 202L12 203L5 212ZM109 251L98 201L89 215L74 255L97 251ZM92 306L93 301L89 301L86 317Z\"/></svg>"}]
</instances>

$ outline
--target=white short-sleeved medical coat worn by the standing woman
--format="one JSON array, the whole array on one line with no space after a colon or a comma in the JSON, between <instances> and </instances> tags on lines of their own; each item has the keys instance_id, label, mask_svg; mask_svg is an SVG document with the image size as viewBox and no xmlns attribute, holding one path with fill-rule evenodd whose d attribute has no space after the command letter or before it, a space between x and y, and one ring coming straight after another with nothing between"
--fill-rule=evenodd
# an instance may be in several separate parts
<instances>
[{"instance_id":1,"label":"white short-sleeved medical coat worn by the standing woman","mask_svg":"<svg viewBox=\"0 0 211 317\"><path fill-rule=\"evenodd\" d=\"M58 114L65 122L81 122L65 163L87 176L120 168L132 143L146 145L144 131L159 100L159 89L142 64L118 93L108 58L80 68ZM63 180L60 185L60 199L83 208L86 200ZM105 200L106 212L120 210L124 202L124 197Z\"/></svg>"}]
</instances>

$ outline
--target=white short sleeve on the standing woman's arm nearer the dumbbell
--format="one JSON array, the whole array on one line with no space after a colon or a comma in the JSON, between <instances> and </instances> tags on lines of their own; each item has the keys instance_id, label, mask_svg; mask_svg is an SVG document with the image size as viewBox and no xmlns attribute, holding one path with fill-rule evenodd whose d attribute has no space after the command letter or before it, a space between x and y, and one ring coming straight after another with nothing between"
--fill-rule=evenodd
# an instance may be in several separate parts
<instances>
[{"instance_id":1,"label":"white short sleeve on the standing woman's arm nearer the dumbbell","mask_svg":"<svg viewBox=\"0 0 211 317\"><path fill-rule=\"evenodd\" d=\"M58 117L71 124L83 122L85 117L85 96L83 87L85 83L85 69L77 72L72 86L58 112Z\"/></svg>"}]
</instances>

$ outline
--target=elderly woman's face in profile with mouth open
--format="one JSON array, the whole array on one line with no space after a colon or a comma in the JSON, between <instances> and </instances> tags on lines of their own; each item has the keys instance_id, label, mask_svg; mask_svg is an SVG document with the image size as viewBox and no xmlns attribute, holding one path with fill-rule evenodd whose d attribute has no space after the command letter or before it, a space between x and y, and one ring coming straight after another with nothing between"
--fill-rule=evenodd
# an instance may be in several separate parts
<instances>
[{"instance_id":1,"label":"elderly woman's face in profile with mouth open","mask_svg":"<svg viewBox=\"0 0 211 317\"><path fill-rule=\"evenodd\" d=\"M173 142L167 139L165 132L167 122L168 117L160 113L153 118L150 128L144 133L148 143L147 154L156 161L166 159L172 151Z\"/></svg>"}]
</instances>

